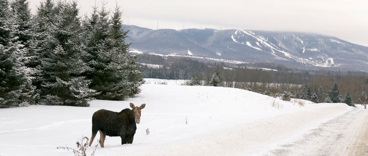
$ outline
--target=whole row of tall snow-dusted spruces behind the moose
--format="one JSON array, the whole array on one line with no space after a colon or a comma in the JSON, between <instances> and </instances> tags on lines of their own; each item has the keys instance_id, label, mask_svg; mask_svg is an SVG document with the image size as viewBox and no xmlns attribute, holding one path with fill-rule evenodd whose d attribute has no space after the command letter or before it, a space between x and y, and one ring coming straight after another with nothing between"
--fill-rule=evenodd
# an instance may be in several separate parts
<instances>
[{"instance_id":1,"label":"whole row of tall snow-dusted spruces behind the moose","mask_svg":"<svg viewBox=\"0 0 368 156\"><path fill-rule=\"evenodd\" d=\"M65 0L43 0L31 15L27 0L0 0L0 107L138 94L143 77L121 16L120 7L110 14L102 6L82 18L77 2Z\"/></svg>"}]
</instances>

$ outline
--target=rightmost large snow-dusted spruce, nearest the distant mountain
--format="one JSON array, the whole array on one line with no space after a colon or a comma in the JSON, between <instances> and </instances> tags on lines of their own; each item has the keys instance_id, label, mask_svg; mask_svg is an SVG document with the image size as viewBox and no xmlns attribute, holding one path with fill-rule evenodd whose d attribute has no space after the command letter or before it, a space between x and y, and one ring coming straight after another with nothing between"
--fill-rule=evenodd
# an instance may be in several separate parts
<instances>
[{"instance_id":1,"label":"rightmost large snow-dusted spruce, nearest the distant mountain","mask_svg":"<svg viewBox=\"0 0 368 156\"><path fill-rule=\"evenodd\" d=\"M103 6L101 10L94 8L84 21L86 62L90 67L85 75L91 80L90 88L99 93L95 96L98 99L125 100L138 94L143 83L137 57L128 54L130 44L124 41L128 32L121 30L121 15L116 7L109 18Z\"/></svg>"}]
</instances>

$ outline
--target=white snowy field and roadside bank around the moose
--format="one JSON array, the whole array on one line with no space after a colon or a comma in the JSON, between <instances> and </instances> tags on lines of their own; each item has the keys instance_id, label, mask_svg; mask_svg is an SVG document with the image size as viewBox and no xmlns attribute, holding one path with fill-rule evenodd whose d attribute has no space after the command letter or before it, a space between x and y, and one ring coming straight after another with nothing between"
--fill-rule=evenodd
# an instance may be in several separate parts
<instances>
[{"instance_id":1,"label":"white snowy field and roadside bank around the moose","mask_svg":"<svg viewBox=\"0 0 368 156\"><path fill-rule=\"evenodd\" d=\"M127 101L0 109L0 156L71 156L56 147L74 148L77 139L90 137L95 111L119 112L130 102L146 103L133 144L106 137L105 148L98 147L96 156L264 155L355 109L346 104L287 102L234 88L179 85L185 80L167 85L154 81L148 79L141 94ZM99 134L93 144L97 139Z\"/></svg>"}]
</instances>

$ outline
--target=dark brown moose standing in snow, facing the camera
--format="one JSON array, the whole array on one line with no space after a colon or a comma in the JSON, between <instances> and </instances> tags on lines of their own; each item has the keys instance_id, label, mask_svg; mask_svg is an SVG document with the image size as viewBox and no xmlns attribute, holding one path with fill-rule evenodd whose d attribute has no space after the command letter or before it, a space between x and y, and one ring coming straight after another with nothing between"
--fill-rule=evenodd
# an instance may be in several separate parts
<instances>
[{"instance_id":1,"label":"dark brown moose standing in snow, facing the camera","mask_svg":"<svg viewBox=\"0 0 368 156\"><path fill-rule=\"evenodd\" d=\"M91 146L97 131L100 132L99 143L104 147L105 137L121 137L121 144L130 144L133 142L136 123L140 122L141 110L146 106L142 104L139 107L130 103L131 110L126 108L121 112L112 112L108 110L98 110L92 116L92 137L89 142Z\"/></svg>"}]
</instances>

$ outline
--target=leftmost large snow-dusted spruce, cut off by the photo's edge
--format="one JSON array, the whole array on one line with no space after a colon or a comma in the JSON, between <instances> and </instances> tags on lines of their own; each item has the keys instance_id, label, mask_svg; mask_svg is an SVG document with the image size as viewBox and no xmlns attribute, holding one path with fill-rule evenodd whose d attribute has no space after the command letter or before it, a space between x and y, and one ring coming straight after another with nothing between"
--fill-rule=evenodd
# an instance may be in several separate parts
<instances>
[{"instance_id":1,"label":"leftmost large snow-dusted spruce, cut off by the photo's edge","mask_svg":"<svg viewBox=\"0 0 368 156\"><path fill-rule=\"evenodd\" d=\"M34 104L33 69L25 66L25 48L19 40L17 15L0 0L0 107ZM19 21L18 21L19 22Z\"/></svg>"}]
</instances>

